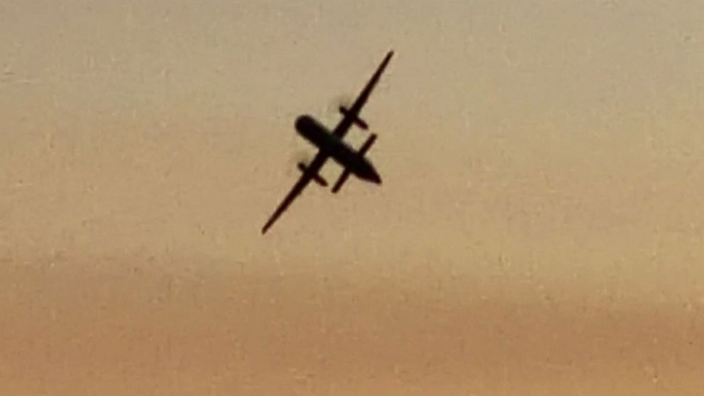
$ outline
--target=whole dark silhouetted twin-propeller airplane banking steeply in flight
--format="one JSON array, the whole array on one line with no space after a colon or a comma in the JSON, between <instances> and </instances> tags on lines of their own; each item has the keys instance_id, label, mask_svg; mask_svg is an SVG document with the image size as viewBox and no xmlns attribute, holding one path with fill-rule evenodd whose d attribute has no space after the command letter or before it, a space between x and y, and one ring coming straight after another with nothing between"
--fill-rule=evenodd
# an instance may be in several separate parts
<instances>
[{"instance_id":1,"label":"whole dark silhouetted twin-propeller airplane banking steeply in flight","mask_svg":"<svg viewBox=\"0 0 704 396\"><path fill-rule=\"evenodd\" d=\"M357 99L348 109L346 106L339 106L340 114L343 116L333 131L321 125L312 116L304 114L299 116L295 121L296 131L300 136L319 148L317 155L313 158L309 165L298 163L298 170L302 172L301 177L292 187L291 191L283 199L279 207L276 208L274 214L262 228L262 235L270 229L275 221L286 211L290 204L298 197L303 189L314 181L321 187L327 187L328 183L319 175L319 170L325 165L328 159L334 160L344 168L339 179L332 187L332 192L337 193L345 184L350 175L355 175L360 180L372 182L376 185L381 185L381 177L375 169L374 165L364 157L365 153L371 148L376 141L376 134L371 133L364 144L355 150L350 145L344 142L344 137L352 126L358 126L364 130L369 128L368 124L359 117L359 113L366 103L369 95L379 81L386 65L394 55L394 51L390 50L384 60L381 62L377 70L374 72L369 82L360 92Z\"/></svg>"}]
</instances>

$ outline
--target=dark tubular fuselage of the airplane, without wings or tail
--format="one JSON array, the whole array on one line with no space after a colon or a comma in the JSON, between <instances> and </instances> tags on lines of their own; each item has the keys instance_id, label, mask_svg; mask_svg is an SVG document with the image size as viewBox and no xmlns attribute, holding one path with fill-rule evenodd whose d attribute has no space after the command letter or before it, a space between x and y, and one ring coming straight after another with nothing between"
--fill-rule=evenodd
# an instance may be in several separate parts
<instances>
[{"instance_id":1,"label":"dark tubular fuselage of the airplane, without wings or tail","mask_svg":"<svg viewBox=\"0 0 704 396\"><path fill-rule=\"evenodd\" d=\"M312 116L299 116L295 126L300 136L319 148L322 153L329 155L336 163L350 170L353 175L369 182L381 183L381 177L367 158L330 133Z\"/></svg>"}]
</instances>

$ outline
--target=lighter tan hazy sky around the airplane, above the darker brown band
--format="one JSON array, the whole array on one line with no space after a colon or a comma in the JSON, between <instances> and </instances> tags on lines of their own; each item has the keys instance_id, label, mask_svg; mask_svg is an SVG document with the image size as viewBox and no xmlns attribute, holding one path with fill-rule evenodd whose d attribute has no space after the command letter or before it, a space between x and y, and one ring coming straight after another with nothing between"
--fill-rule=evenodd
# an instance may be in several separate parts
<instances>
[{"instance_id":1,"label":"lighter tan hazy sky around the airplane, above the darker brown band","mask_svg":"<svg viewBox=\"0 0 704 396\"><path fill-rule=\"evenodd\" d=\"M261 236L390 49L384 184ZM702 307L702 70L700 1L4 0L0 249Z\"/></svg>"}]
</instances>

